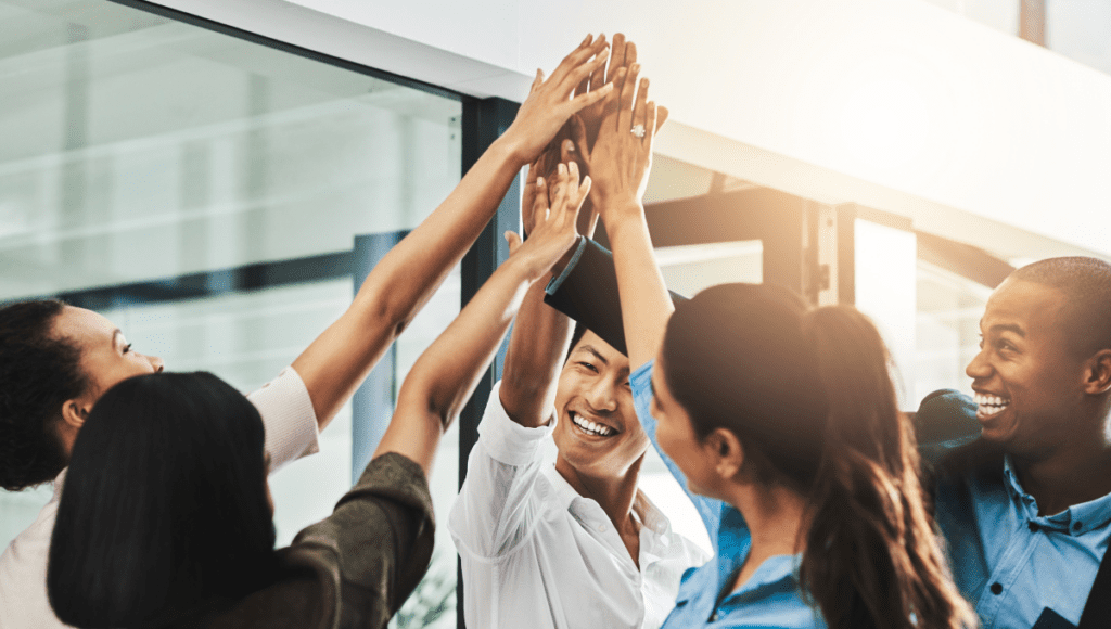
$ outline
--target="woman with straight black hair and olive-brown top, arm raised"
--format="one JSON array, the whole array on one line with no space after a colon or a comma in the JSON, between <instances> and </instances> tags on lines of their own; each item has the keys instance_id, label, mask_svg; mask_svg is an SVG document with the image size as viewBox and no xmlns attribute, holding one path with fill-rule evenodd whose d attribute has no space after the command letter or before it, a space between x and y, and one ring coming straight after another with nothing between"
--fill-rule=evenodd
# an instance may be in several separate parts
<instances>
[{"instance_id":1,"label":"woman with straight black hair and olive-brown top, arm raised","mask_svg":"<svg viewBox=\"0 0 1111 629\"><path fill-rule=\"evenodd\" d=\"M575 237L589 190L562 169L528 242L417 360L359 482L323 521L273 550L259 412L209 373L109 389L70 457L47 585L84 628L384 627L420 581L440 437L486 371L529 287Z\"/></svg>"}]
</instances>

